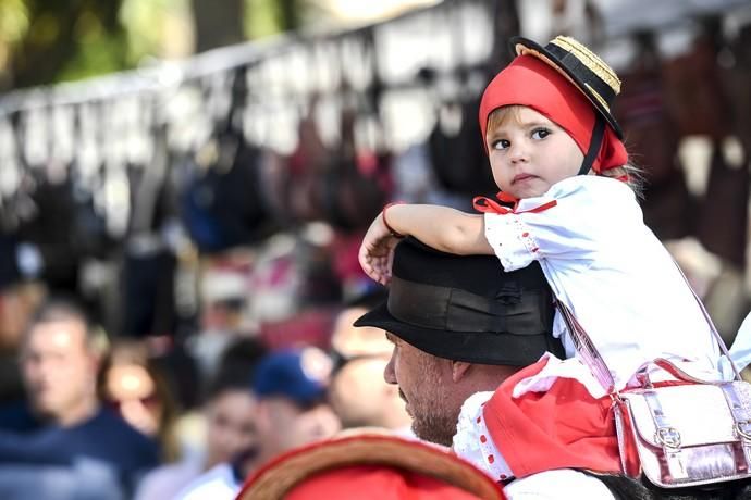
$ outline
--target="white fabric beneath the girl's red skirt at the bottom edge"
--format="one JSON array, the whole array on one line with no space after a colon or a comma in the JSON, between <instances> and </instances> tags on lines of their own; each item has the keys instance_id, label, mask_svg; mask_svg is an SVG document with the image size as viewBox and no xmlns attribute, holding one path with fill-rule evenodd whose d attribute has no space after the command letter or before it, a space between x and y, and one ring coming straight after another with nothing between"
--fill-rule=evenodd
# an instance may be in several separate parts
<instances>
[{"instance_id":1,"label":"white fabric beneath the girl's red skirt at the bottom edge","mask_svg":"<svg viewBox=\"0 0 751 500\"><path fill-rule=\"evenodd\" d=\"M559 498L615 500L603 482L573 468L545 471L517 479L504 488L504 493L509 500Z\"/></svg>"}]
</instances>

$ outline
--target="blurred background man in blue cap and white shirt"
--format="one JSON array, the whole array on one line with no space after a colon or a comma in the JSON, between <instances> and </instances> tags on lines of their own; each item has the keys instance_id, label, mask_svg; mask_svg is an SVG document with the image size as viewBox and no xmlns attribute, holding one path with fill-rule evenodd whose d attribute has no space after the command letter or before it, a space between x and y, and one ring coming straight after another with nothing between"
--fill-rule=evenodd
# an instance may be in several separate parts
<instances>
[{"instance_id":1,"label":"blurred background man in blue cap and white shirt","mask_svg":"<svg viewBox=\"0 0 751 500\"><path fill-rule=\"evenodd\" d=\"M180 500L234 499L249 473L271 459L341 428L328 403L331 359L305 348L268 354L253 376L256 396L256 446L232 463L222 463L188 485Z\"/></svg>"}]
</instances>

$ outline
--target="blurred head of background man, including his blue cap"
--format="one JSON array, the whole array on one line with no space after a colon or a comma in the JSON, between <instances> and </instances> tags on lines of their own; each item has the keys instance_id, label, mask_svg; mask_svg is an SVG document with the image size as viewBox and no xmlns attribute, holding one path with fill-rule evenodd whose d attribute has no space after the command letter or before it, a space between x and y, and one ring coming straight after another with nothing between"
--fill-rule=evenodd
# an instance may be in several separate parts
<instances>
[{"instance_id":1,"label":"blurred head of background man, including his blue cap","mask_svg":"<svg viewBox=\"0 0 751 500\"><path fill-rule=\"evenodd\" d=\"M316 348L274 352L258 364L258 437L264 458L332 436L341 428L327 402L331 359Z\"/></svg>"}]
</instances>

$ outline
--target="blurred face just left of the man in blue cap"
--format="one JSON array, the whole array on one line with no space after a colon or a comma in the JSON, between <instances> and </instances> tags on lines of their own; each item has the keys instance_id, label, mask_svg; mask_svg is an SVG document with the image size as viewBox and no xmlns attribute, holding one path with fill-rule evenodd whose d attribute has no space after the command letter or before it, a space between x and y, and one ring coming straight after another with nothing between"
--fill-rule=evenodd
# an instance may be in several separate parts
<instances>
[{"instance_id":1,"label":"blurred face just left of the man in blue cap","mask_svg":"<svg viewBox=\"0 0 751 500\"><path fill-rule=\"evenodd\" d=\"M206 408L206 467L229 462L257 443L256 400L248 390L227 389Z\"/></svg>"}]
</instances>

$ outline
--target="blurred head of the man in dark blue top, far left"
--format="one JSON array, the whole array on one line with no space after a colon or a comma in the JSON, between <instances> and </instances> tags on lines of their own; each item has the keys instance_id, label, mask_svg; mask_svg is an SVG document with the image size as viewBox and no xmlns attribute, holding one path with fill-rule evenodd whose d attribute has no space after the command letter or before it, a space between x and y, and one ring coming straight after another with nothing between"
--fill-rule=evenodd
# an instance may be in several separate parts
<instances>
[{"instance_id":1,"label":"blurred head of the man in dark blue top, far left","mask_svg":"<svg viewBox=\"0 0 751 500\"><path fill-rule=\"evenodd\" d=\"M41 305L24 335L21 366L32 407L60 425L73 425L97 407L99 357L85 313L72 303Z\"/></svg>"}]
</instances>

